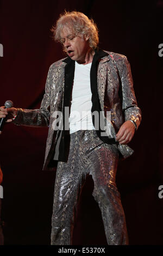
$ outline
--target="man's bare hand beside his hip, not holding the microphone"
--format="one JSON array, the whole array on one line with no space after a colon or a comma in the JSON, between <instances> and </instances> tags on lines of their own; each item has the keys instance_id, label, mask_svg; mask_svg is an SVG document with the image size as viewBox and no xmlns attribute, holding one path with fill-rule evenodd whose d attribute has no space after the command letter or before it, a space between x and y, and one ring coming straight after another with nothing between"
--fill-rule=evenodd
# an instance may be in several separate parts
<instances>
[{"instance_id":1,"label":"man's bare hand beside his hip, not holding the microphone","mask_svg":"<svg viewBox=\"0 0 163 256\"><path fill-rule=\"evenodd\" d=\"M131 121L127 120L121 125L120 130L116 135L116 140L120 144L127 144L133 138L134 133L135 133L135 125Z\"/></svg>"}]
</instances>

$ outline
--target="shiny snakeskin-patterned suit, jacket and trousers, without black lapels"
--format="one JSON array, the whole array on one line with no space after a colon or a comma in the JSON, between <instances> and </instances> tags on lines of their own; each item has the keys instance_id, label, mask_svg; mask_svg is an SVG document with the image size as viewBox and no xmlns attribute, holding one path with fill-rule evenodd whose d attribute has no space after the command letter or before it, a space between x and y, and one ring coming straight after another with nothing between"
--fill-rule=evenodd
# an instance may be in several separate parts
<instances>
[{"instance_id":1,"label":"shiny snakeskin-patterned suit, jacket and trousers, without black lapels","mask_svg":"<svg viewBox=\"0 0 163 256\"><path fill-rule=\"evenodd\" d=\"M98 97L102 111L111 112L110 138L115 138L121 125L128 119L139 127L141 111L137 107L130 64L126 56L113 52L105 52L107 55L103 56L104 52L101 53L97 67ZM65 59L62 59L49 68L40 109L18 109L14 120L16 124L49 126L43 169L50 169L49 163L54 157L59 139L59 130L54 131L53 113L63 111L66 65ZM133 150L128 145L106 144L98 138L95 131L72 133L68 161L58 162L57 167L52 245L71 244L74 209L87 174L91 174L94 181L93 196L102 211L108 244L128 244L126 221L115 176L119 155L126 158L131 154Z\"/></svg>"}]
</instances>

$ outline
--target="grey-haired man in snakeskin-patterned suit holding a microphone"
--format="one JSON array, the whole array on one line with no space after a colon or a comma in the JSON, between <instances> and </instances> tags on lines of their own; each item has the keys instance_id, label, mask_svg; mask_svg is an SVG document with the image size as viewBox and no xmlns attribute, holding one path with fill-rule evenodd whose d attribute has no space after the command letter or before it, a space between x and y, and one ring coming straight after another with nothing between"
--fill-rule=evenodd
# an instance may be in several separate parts
<instances>
[{"instance_id":1,"label":"grey-haired man in snakeskin-patterned suit holding a microphone","mask_svg":"<svg viewBox=\"0 0 163 256\"><path fill-rule=\"evenodd\" d=\"M130 64L126 56L98 48L97 27L83 13L65 12L52 31L68 57L49 68L40 109L1 107L0 117L49 126L43 169L57 163L51 244L72 244L79 194L92 175L108 245L127 245L115 180L118 158L133 153L127 143L141 121Z\"/></svg>"}]
</instances>

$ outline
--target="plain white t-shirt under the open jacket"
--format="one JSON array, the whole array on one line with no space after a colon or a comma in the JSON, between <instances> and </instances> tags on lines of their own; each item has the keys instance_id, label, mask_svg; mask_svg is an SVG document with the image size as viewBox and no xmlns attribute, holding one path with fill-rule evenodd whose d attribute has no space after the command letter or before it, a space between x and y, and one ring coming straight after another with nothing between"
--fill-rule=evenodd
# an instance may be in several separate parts
<instances>
[{"instance_id":1,"label":"plain white t-shirt under the open jacket","mask_svg":"<svg viewBox=\"0 0 163 256\"><path fill-rule=\"evenodd\" d=\"M95 130L92 123L92 93L90 83L91 64L75 63L72 88L71 111L69 117L70 133L79 130Z\"/></svg>"}]
</instances>

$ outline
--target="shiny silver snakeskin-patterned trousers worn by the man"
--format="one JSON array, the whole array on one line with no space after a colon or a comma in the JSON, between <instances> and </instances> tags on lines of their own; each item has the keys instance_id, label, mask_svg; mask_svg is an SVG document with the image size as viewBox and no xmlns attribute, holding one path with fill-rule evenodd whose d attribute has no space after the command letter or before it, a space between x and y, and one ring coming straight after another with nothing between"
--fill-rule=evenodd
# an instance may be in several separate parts
<instances>
[{"instance_id":1,"label":"shiny silver snakeskin-patterned trousers worn by the man","mask_svg":"<svg viewBox=\"0 0 163 256\"><path fill-rule=\"evenodd\" d=\"M95 130L71 134L68 161L58 162L54 187L51 245L72 245L77 204L88 174L94 182L93 197L102 213L108 245L127 245L126 220L115 179L116 145L101 141Z\"/></svg>"}]
</instances>

